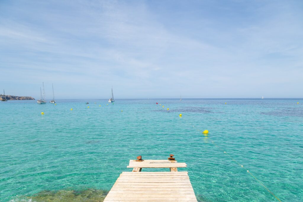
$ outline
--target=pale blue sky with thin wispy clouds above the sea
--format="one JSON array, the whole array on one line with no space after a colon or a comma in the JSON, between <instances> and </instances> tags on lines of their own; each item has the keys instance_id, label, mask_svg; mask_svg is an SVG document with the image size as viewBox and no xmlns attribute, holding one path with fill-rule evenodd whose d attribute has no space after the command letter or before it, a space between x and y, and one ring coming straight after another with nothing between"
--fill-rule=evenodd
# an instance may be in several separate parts
<instances>
[{"instance_id":1,"label":"pale blue sky with thin wispy clouds above the sea","mask_svg":"<svg viewBox=\"0 0 303 202\"><path fill-rule=\"evenodd\" d=\"M0 89L303 98L303 1L0 1ZM1 90L2 91L2 90Z\"/></svg>"}]
</instances>

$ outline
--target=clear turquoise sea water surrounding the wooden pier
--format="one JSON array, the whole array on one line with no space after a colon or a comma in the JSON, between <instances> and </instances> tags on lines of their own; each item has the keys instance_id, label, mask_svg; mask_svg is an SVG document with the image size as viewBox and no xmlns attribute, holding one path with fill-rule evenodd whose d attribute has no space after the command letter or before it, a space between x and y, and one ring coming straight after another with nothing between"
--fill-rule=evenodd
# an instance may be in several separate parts
<instances>
[{"instance_id":1,"label":"clear turquoise sea water surrounding the wooden pier","mask_svg":"<svg viewBox=\"0 0 303 202\"><path fill-rule=\"evenodd\" d=\"M171 153L187 163L179 171L188 171L200 201L277 201L224 151L282 201L303 201L302 99L106 104L0 102L0 201L99 200L122 171L132 170L129 159Z\"/></svg>"}]
</instances>

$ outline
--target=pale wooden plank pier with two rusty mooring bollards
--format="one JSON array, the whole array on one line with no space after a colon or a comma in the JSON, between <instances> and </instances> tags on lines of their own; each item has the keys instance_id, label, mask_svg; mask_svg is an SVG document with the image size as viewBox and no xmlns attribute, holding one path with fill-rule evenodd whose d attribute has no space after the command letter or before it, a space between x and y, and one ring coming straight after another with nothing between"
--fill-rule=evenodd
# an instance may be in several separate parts
<instances>
[{"instance_id":1,"label":"pale wooden plank pier with two rusty mooring bollards","mask_svg":"<svg viewBox=\"0 0 303 202\"><path fill-rule=\"evenodd\" d=\"M122 172L104 202L110 201L197 201L188 172L178 172L178 163L171 160L130 160L132 172ZM169 159L169 158L168 158ZM172 160L173 159L173 160ZM142 168L169 168L170 172L141 172Z\"/></svg>"}]
</instances>

